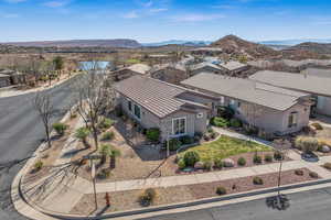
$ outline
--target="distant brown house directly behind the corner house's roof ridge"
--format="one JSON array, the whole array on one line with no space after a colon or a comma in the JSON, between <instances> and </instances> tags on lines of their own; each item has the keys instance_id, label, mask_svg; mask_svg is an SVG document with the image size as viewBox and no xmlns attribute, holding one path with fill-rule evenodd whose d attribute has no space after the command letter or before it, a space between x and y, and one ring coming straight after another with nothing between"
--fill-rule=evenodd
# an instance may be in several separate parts
<instances>
[{"instance_id":1,"label":"distant brown house directly behind the corner house's roof ridge","mask_svg":"<svg viewBox=\"0 0 331 220\"><path fill-rule=\"evenodd\" d=\"M182 64L163 64L153 66L150 70L151 78L179 85L182 80L189 78L189 73Z\"/></svg>"}]
</instances>

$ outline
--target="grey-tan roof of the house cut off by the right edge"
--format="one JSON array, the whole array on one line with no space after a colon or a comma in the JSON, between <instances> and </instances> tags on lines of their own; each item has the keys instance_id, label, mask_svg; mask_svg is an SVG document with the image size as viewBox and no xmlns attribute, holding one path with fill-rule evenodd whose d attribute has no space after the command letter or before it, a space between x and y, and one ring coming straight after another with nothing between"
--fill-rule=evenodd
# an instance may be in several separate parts
<instances>
[{"instance_id":1,"label":"grey-tan roof of the house cut off by the right edge","mask_svg":"<svg viewBox=\"0 0 331 220\"><path fill-rule=\"evenodd\" d=\"M331 97L331 78L271 70L257 72L249 78L287 89Z\"/></svg>"}]
</instances>

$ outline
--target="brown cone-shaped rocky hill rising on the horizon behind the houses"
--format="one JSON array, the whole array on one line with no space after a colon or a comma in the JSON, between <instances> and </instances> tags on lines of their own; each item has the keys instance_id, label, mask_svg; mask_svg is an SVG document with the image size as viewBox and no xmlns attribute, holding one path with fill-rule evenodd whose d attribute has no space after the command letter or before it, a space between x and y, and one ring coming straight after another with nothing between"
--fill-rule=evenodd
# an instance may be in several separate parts
<instances>
[{"instance_id":1,"label":"brown cone-shaped rocky hill rising on the horizon behind the houses","mask_svg":"<svg viewBox=\"0 0 331 220\"><path fill-rule=\"evenodd\" d=\"M268 46L239 38L235 35L227 35L211 44L213 47L221 47L227 54L246 55L250 58L271 58L281 56L281 52Z\"/></svg>"}]
</instances>

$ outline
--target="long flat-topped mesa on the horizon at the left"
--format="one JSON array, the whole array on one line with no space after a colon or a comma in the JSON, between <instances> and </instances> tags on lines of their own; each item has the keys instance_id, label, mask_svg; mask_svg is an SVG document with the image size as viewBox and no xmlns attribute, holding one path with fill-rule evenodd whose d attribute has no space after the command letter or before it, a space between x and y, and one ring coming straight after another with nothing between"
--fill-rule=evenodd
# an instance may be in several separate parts
<instances>
[{"instance_id":1,"label":"long flat-topped mesa on the horizon at the left","mask_svg":"<svg viewBox=\"0 0 331 220\"><path fill-rule=\"evenodd\" d=\"M115 38L115 40L71 40L71 41L38 41L38 42L8 42L6 45L24 47L141 47L135 40Z\"/></svg>"}]
</instances>

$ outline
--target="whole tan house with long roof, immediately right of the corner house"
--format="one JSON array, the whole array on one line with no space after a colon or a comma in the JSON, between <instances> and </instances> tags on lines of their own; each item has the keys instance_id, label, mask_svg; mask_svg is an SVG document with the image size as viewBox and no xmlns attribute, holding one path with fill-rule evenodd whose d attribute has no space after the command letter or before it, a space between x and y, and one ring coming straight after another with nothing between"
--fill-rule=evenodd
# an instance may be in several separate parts
<instances>
[{"instance_id":1,"label":"whole tan house with long roof, immediately right of the corner house","mask_svg":"<svg viewBox=\"0 0 331 220\"><path fill-rule=\"evenodd\" d=\"M229 106L235 117L260 132L287 134L309 123L310 95L249 79L202 73L182 85L217 96L218 106Z\"/></svg>"}]
</instances>

